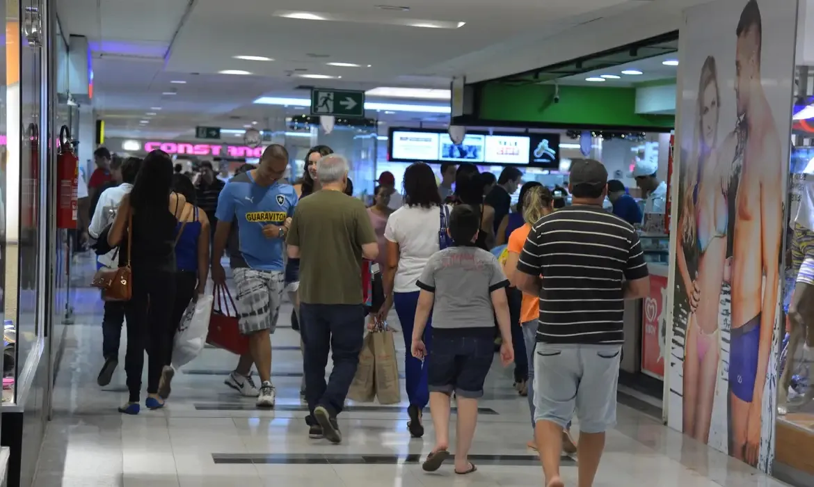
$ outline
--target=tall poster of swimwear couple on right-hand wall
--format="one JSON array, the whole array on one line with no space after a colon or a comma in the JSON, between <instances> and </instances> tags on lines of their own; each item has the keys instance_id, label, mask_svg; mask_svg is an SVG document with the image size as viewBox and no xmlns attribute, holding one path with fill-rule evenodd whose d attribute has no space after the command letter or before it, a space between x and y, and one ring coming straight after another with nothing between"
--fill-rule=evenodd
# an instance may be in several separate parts
<instances>
[{"instance_id":1,"label":"tall poster of swimwear couple on right-hand wall","mask_svg":"<svg viewBox=\"0 0 814 487\"><path fill-rule=\"evenodd\" d=\"M774 452L797 0L719 0L679 32L667 423L764 472Z\"/></svg>"}]
</instances>

